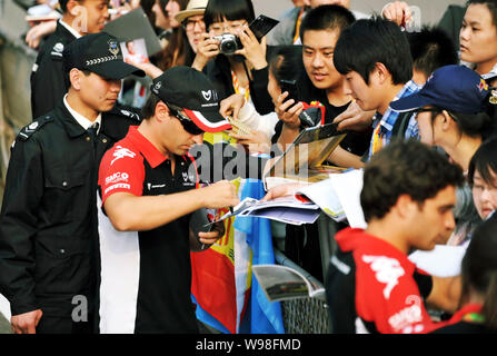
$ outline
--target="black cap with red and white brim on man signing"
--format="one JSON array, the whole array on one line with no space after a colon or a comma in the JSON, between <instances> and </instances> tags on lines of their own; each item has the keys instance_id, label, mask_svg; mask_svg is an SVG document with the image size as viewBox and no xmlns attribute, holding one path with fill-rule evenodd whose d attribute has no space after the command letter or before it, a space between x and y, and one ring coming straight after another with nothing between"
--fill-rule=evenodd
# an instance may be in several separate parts
<instances>
[{"instance_id":1,"label":"black cap with red and white brim on man signing","mask_svg":"<svg viewBox=\"0 0 497 356\"><path fill-rule=\"evenodd\" d=\"M205 73L191 67L178 66L153 79L150 90L165 103L181 108L205 132L231 129L219 113L219 97Z\"/></svg>"}]
</instances>

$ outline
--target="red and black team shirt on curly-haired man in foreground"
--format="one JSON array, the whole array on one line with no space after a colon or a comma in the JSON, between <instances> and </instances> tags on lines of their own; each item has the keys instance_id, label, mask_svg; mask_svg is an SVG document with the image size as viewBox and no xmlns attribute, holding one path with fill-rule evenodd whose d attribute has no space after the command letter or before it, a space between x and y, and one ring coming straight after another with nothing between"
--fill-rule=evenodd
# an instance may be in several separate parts
<instances>
[{"instance_id":1,"label":"red and black team shirt on curly-haired man in foreground","mask_svg":"<svg viewBox=\"0 0 497 356\"><path fill-rule=\"evenodd\" d=\"M334 333L420 334L441 327L425 308L428 276L392 245L362 229L336 235L326 280Z\"/></svg>"}]
</instances>

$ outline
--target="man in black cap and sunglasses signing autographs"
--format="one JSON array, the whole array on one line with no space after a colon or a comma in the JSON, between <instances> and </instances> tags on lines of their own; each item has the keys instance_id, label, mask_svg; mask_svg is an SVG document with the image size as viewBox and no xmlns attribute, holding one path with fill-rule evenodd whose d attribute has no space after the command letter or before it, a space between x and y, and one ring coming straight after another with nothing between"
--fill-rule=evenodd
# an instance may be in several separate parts
<instances>
[{"instance_id":1,"label":"man in black cap and sunglasses signing autographs","mask_svg":"<svg viewBox=\"0 0 497 356\"><path fill-rule=\"evenodd\" d=\"M212 83L193 68L175 67L153 80L151 92L143 121L100 165L100 333L198 333L190 249L208 248L223 231L199 233L197 241L189 222L198 209L238 204L226 180L196 189L188 154L205 131L230 128Z\"/></svg>"}]
</instances>

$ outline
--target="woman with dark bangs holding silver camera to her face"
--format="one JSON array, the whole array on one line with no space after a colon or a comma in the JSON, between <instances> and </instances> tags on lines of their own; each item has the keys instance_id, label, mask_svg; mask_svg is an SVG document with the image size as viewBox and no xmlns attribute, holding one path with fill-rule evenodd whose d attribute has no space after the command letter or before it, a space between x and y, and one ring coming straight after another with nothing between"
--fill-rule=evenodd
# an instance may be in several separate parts
<instances>
[{"instance_id":1,"label":"woman with dark bangs holding silver camera to her face","mask_svg":"<svg viewBox=\"0 0 497 356\"><path fill-rule=\"evenodd\" d=\"M220 99L239 93L260 115L274 111L267 91L271 48L265 36L278 21L265 16L256 19L250 0L209 0L203 20L207 32L192 67L203 70Z\"/></svg>"}]
</instances>

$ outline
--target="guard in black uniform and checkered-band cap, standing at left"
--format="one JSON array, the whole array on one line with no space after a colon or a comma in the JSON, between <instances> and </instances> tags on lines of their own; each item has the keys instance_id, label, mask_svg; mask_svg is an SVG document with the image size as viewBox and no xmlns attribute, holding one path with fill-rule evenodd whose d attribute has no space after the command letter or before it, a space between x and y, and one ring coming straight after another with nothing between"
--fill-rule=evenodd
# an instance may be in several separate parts
<instances>
[{"instance_id":1,"label":"guard in black uniform and checkered-band cap, standing at left","mask_svg":"<svg viewBox=\"0 0 497 356\"><path fill-rule=\"evenodd\" d=\"M92 330L98 167L103 152L139 122L135 113L112 109L120 79L145 75L123 62L116 38L87 34L63 56L69 92L19 132L7 172L0 293L19 334Z\"/></svg>"}]
</instances>

